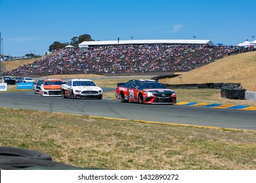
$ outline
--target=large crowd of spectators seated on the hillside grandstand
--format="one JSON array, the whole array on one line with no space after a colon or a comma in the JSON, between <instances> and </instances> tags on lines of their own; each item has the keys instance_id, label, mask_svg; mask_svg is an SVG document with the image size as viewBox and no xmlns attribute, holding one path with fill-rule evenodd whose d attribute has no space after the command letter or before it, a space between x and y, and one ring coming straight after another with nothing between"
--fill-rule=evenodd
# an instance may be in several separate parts
<instances>
[{"instance_id":1,"label":"large crowd of spectators seated on the hillside grandstand","mask_svg":"<svg viewBox=\"0 0 256 183\"><path fill-rule=\"evenodd\" d=\"M63 48L4 75L121 74L190 71L224 58L235 46L142 44Z\"/></svg>"}]
</instances>

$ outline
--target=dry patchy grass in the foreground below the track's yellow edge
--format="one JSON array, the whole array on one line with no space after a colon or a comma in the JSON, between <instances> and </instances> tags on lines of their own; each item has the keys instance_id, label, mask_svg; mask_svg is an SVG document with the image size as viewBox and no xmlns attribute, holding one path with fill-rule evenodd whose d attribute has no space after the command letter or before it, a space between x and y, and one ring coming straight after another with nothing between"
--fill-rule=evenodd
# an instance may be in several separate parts
<instances>
[{"instance_id":1,"label":"dry patchy grass in the foreground below the track's yellow edge","mask_svg":"<svg viewBox=\"0 0 256 183\"><path fill-rule=\"evenodd\" d=\"M0 145L102 169L256 169L256 132L0 108Z\"/></svg>"}]
</instances>

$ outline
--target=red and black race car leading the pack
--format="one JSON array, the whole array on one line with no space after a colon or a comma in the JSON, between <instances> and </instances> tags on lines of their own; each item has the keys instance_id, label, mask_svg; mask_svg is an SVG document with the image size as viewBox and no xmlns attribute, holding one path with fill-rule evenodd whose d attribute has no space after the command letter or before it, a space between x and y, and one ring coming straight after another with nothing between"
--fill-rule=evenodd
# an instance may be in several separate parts
<instances>
[{"instance_id":1,"label":"red and black race car leading the pack","mask_svg":"<svg viewBox=\"0 0 256 183\"><path fill-rule=\"evenodd\" d=\"M122 103L175 104L177 95L156 80L129 80L117 84L116 97Z\"/></svg>"}]
</instances>

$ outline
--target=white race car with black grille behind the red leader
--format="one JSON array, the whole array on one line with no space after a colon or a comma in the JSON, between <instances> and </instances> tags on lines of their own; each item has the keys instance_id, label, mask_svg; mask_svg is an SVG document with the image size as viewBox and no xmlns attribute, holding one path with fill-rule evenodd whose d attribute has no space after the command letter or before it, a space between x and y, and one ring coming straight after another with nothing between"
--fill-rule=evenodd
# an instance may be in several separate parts
<instances>
[{"instance_id":1,"label":"white race car with black grille behind the red leader","mask_svg":"<svg viewBox=\"0 0 256 183\"><path fill-rule=\"evenodd\" d=\"M72 79L62 84L62 96L71 99L102 99L103 90L89 79Z\"/></svg>"}]
</instances>

